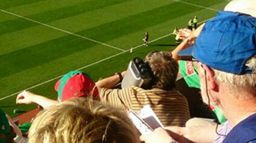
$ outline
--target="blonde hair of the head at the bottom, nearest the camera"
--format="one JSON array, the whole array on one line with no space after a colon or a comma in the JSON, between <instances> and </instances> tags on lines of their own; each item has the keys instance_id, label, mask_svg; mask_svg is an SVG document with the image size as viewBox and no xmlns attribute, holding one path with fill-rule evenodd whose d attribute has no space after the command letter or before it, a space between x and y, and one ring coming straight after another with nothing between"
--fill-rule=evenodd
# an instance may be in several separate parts
<instances>
[{"instance_id":1,"label":"blonde hair of the head at the bottom, nearest the camera","mask_svg":"<svg viewBox=\"0 0 256 143\"><path fill-rule=\"evenodd\" d=\"M29 143L138 143L128 115L117 107L72 98L41 111L29 130Z\"/></svg>"}]
</instances>

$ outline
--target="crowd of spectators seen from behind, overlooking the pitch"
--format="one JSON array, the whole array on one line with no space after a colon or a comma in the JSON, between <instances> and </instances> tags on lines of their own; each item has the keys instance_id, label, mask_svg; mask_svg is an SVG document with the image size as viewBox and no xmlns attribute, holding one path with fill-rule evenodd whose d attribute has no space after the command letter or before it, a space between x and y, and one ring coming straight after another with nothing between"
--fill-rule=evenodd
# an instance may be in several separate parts
<instances>
[{"instance_id":1,"label":"crowd of spectators seen from behind, overlooking the pitch","mask_svg":"<svg viewBox=\"0 0 256 143\"><path fill-rule=\"evenodd\" d=\"M178 30L182 42L174 50L147 54L147 87L115 88L126 71L96 83L70 71L55 84L57 100L19 93L17 104L43 109L26 137L0 109L0 143L256 143L256 2L232 0L213 19L190 26ZM175 88L178 74L200 89L216 119L191 118L188 99ZM140 134L128 112L145 105L163 127Z\"/></svg>"}]
</instances>

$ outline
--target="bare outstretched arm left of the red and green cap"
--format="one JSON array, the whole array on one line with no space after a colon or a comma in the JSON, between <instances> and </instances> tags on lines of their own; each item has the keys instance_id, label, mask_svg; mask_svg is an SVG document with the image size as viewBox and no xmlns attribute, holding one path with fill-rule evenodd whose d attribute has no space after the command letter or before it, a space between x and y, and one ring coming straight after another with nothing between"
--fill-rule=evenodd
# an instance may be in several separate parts
<instances>
[{"instance_id":1,"label":"bare outstretched arm left of the red and green cap","mask_svg":"<svg viewBox=\"0 0 256 143\"><path fill-rule=\"evenodd\" d=\"M58 101L49 99L47 97L34 94L30 91L23 91L20 94L18 94L16 98L16 104L31 104L36 103L43 108L56 105Z\"/></svg>"}]
</instances>

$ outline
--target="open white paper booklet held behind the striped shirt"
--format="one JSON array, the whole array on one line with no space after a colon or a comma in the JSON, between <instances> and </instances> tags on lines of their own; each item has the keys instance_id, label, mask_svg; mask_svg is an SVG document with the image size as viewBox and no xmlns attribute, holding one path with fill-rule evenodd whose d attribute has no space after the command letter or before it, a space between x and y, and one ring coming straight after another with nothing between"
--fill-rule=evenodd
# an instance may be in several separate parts
<instances>
[{"instance_id":1,"label":"open white paper booklet held behind the striped shirt","mask_svg":"<svg viewBox=\"0 0 256 143\"><path fill-rule=\"evenodd\" d=\"M164 127L149 105L145 105L137 113L130 110L129 117L142 135L151 133L158 127Z\"/></svg>"}]
</instances>

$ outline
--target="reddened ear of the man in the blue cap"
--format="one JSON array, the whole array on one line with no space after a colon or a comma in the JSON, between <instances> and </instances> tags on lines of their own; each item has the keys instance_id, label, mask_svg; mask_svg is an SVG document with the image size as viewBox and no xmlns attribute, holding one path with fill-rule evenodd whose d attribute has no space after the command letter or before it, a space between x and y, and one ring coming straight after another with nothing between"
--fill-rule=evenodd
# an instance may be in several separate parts
<instances>
[{"instance_id":1,"label":"reddened ear of the man in the blue cap","mask_svg":"<svg viewBox=\"0 0 256 143\"><path fill-rule=\"evenodd\" d=\"M213 72L213 69L204 64L203 67L206 72L208 88L214 91L219 91L219 85L216 83L216 80L214 78L215 74Z\"/></svg>"}]
</instances>

